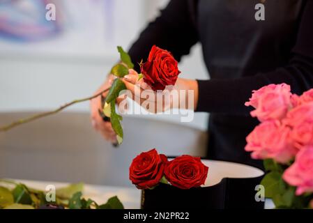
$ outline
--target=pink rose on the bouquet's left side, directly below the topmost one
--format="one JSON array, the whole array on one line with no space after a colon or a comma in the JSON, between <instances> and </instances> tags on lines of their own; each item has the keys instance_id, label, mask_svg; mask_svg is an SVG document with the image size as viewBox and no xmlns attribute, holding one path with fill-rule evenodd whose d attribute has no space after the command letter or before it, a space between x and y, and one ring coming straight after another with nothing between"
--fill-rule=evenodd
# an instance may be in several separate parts
<instances>
[{"instance_id":1,"label":"pink rose on the bouquet's left side, directly below the topmost one","mask_svg":"<svg viewBox=\"0 0 313 223\"><path fill-rule=\"evenodd\" d=\"M253 159L273 158L287 163L298 151L290 141L290 133L291 129L280 121L265 121L247 136L245 151L252 152Z\"/></svg>"}]
</instances>

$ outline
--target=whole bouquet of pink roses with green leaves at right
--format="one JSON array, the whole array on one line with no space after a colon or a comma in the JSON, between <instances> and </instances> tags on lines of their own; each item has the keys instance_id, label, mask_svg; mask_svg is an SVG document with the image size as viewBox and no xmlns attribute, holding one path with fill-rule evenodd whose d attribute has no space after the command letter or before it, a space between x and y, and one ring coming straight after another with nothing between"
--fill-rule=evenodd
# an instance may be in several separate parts
<instances>
[{"instance_id":1,"label":"whole bouquet of pink roses with green leaves at right","mask_svg":"<svg viewBox=\"0 0 313 223\"><path fill-rule=\"evenodd\" d=\"M299 96L287 84L270 84L245 105L261 122L245 151L264 160L266 197L276 208L313 208L313 89Z\"/></svg>"}]
</instances>

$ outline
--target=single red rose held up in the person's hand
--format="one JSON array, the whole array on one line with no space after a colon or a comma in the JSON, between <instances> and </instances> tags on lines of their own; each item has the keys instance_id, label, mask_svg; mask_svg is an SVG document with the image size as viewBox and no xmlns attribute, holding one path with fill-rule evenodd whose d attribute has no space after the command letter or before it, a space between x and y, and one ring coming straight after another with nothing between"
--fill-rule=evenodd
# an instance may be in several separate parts
<instances>
[{"instance_id":1,"label":"single red rose held up in the person's hand","mask_svg":"<svg viewBox=\"0 0 313 223\"><path fill-rule=\"evenodd\" d=\"M148 61L141 66L144 75L144 82L156 90L164 90L167 85L174 85L181 71L178 70L178 63L165 49L155 45L148 56Z\"/></svg>"}]
</instances>

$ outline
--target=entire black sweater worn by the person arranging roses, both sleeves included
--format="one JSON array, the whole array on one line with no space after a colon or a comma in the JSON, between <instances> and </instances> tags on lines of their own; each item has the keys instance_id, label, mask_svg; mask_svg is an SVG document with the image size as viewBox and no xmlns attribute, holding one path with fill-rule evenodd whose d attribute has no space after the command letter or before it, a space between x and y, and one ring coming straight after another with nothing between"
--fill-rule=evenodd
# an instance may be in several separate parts
<instances>
[{"instance_id":1,"label":"entire black sweater worn by the person arranging roses, both sleeves included","mask_svg":"<svg viewBox=\"0 0 313 223\"><path fill-rule=\"evenodd\" d=\"M178 61L200 42L210 80L198 80L198 112L210 112L208 158L257 164L244 151L258 121L244 102L254 89L290 84L313 88L313 0L267 0L257 21L257 0L172 0L132 45L134 61L152 45ZM138 68L138 67L137 67Z\"/></svg>"}]
</instances>

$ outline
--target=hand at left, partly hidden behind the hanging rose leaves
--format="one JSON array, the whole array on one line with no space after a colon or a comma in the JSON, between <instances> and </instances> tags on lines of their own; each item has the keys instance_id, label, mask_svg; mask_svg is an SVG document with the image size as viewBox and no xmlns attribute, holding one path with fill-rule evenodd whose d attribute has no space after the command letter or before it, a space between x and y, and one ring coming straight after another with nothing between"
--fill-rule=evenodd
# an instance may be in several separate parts
<instances>
[{"instance_id":1,"label":"hand at left, partly hidden behind the hanging rose leaves","mask_svg":"<svg viewBox=\"0 0 313 223\"><path fill-rule=\"evenodd\" d=\"M105 81L102 86L100 86L100 89L95 92L95 95L97 93L100 93L101 91L104 91L105 89L109 88L114 81L114 76L109 75L107 77L107 80ZM105 97L109 91L103 93L103 96ZM101 105L101 97L93 98L90 102L91 107L91 124L93 125L93 128L99 132L102 137L104 137L107 141L110 141L112 143L116 143L116 134L112 128L112 125L109 121L103 121L102 117L99 114L99 110L102 111L102 105Z\"/></svg>"}]
</instances>

